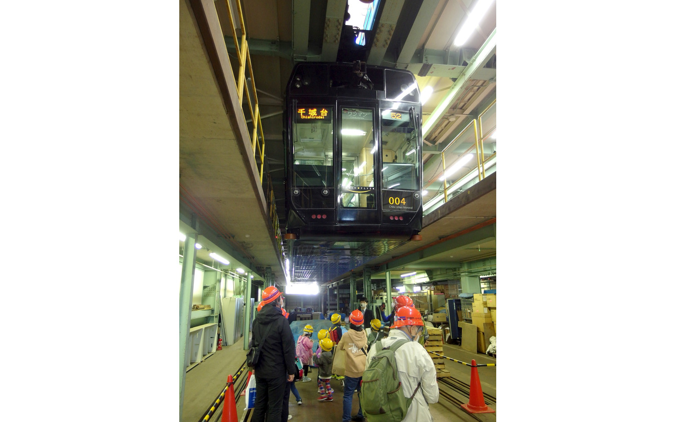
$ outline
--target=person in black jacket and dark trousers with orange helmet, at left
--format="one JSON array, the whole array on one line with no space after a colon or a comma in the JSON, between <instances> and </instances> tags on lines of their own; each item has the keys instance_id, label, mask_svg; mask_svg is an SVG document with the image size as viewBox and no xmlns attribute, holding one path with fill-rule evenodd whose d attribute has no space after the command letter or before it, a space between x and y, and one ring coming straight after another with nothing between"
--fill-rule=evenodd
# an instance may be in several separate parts
<instances>
[{"instance_id":1,"label":"person in black jacket and dark trousers with orange helmet, at left","mask_svg":"<svg viewBox=\"0 0 676 422\"><path fill-rule=\"evenodd\" d=\"M256 376L256 402L251 421L282 422L283 406L289 406L283 402L287 382L293 381L296 369L295 342L282 315L281 292L270 286L262 296L264 305L251 327L251 345L260 347L260 358L252 371Z\"/></svg>"}]
</instances>

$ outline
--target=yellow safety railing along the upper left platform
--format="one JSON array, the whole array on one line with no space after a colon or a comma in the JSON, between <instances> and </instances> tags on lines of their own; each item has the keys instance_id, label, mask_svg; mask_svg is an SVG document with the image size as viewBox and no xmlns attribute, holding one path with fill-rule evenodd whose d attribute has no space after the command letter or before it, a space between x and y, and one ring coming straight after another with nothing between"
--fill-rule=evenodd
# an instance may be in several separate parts
<instances>
[{"instance_id":1,"label":"yellow safety railing along the upper left platform","mask_svg":"<svg viewBox=\"0 0 676 422\"><path fill-rule=\"evenodd\" d=\"M235 0L237 4L237 22L241 28L241 41L237 38L237 30L235 29L235 18L233 18L233 9L230 1L225 0L228 9L228 20L230 20L230 28L233 31L233 40L235 41L235 51L237 53L237 60L239 61L239 70L237 72L237 97L239 98L239 106L242 106L244 99L243 94L247 96L247 105L249 105L249 113L251 113L251 122L254 124L254 130L251 131L251 148L254 149L254 155L260 160L259 178L263 182L263 163L265 157L265 136L263 134L263 123L258 109L258 95L256 94L256 82L254 80L254 72L251 68L251 55L249 55L249 43L247 42L247 32L244 26L244 16L242 14L242 5L239 0ZM251 91L249 92L249 85L246 83L248 77L251 80ZM234 76L234 72L233 72ZM253 105L253 106L252 106ZM260 140L258 134L260 132Z\"/></svg>"}]
</instances>

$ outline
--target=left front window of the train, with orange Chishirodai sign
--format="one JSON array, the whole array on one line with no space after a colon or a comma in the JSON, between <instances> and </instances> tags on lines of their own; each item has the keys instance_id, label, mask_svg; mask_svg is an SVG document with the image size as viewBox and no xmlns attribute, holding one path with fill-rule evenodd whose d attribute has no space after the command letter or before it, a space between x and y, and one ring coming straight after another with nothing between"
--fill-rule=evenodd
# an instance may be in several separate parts
<instances>
[{"instance_id":1,"label":"left front window of the train, with orange Chishirodai sign","mask_svg":"<svg viewBox=\"0 0 676 422\"><path fill-rule=\"evenodd\" d=\"M333 186L333 107L297 105L292 133L293 184Z\"/></svg>"}]
</instances>

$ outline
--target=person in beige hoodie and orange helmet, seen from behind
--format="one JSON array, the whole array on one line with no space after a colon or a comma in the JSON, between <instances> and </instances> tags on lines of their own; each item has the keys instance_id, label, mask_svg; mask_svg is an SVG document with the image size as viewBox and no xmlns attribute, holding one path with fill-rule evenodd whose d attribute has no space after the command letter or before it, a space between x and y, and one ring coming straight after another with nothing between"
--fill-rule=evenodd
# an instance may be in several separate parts
<instances>
[{"instance_id":1,"label":"person in beige hoodie and orange helmet, seen from behind","mask_svg":"<svg viewBox=\"0 0 676 422\"><path fill-rule=\"evenodd\" d=\"M362 374L366 368L366 332L364 331L364 314L361 311L352 311L349 314L349 329L341 337L339 350L345 351L345 379L343 380L343 422L364 421L362 406L354 417L352 414L352 396L354 390L362 390Z\"/></svg>"}]
</instances>

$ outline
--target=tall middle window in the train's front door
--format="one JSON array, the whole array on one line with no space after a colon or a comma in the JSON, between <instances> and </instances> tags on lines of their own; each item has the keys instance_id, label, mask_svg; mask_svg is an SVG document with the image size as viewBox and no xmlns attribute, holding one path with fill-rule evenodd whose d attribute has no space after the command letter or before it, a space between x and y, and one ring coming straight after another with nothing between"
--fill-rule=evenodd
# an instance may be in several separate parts
<instances>
[{"instance_id":1,"label":"tall middle window in the train's front door","mask_svg":"<svg viewBox=\"0 0 676 422\"><path fill-rule=\"evenodd\" d=\"M343 107L339 136L343 151L340 203L347 208L375 209L373 110Z\"/></svg>"}]
</instances>

